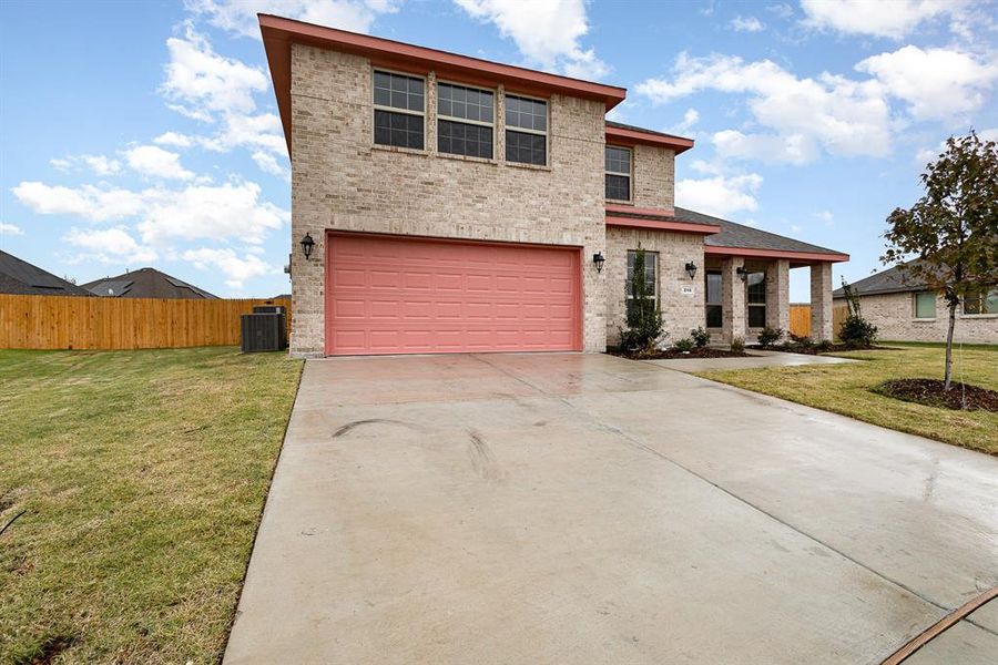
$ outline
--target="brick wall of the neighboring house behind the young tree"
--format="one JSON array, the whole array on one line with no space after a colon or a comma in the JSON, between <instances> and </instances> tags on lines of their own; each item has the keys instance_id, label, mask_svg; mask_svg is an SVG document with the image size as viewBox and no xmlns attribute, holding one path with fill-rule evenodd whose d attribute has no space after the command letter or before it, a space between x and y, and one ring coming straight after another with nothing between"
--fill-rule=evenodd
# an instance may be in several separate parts
<instances>
[{"instance_id":1,"label":"brick wall of the neighboring house behind the young tree","mask_svg":"<svg viewBox=\"0 0 998 665\"><path fill-rule=\"evenodd\" d=\"M949 310L941 294L936 296L936 318L915 318L915 294L879 294L860 296L863 316L877 327L884 340L946 341ZM835 298L836 307L846 305L845 298ZM953 331L956 341L967 344L998 344L998 315L964 316L957 309Z\"/></svg>"}]
</instances>

